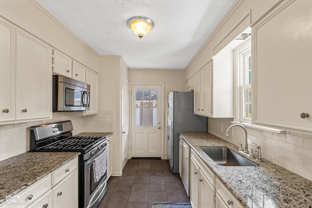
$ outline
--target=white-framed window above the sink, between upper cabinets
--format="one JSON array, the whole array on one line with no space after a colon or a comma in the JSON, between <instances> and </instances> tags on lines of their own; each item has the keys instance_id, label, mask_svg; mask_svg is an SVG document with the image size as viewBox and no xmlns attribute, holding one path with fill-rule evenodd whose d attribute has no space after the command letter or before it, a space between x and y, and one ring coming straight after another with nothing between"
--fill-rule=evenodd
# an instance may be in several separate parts
<instances>
[{"instance_id":1,"label":"white-framed window above the sink, between upper cabinets","mask_svg":"<svg viewBox=\"0 0 312 208\"><path fill-rule=\"evenodd\" d=\"M251 123L252 118L252 53L251 38L234 49L234 83L236 83L235 121Z\"/></svg>"}]
</instances>

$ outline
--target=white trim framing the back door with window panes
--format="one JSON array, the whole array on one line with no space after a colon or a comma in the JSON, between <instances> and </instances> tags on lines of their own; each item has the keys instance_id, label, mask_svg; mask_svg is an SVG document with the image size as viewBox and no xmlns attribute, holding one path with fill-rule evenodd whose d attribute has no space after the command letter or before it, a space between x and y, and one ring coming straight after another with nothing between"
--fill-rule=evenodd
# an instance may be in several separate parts
<instances>
[{"instance_id":1,"label":"white trim framing the back door with window panes","mask_svg":"<svg viewBox=\"0 0 312 208\"><path fill-rule=\"evenodd\" d=\"M132 96L132 86L133 85L147 85L147 86L150 86L150 85L160 85L161 86L161 99L162 99L162 102L161 102L161 117L160 117L160 121L161 121L161 133L160 133L160 156L161 156L161 159L164 159L164 99L165 99L165 96L164 96L164 88L165 88L165 83L164 82L130 82L129 83L129 91L130 91L130 95L129 97L131 98ZM129 109L132 109L132 98L129 99ZM129 110L130 112L130 117L129 117L129 133L128 133L128 138L129 138L129 146L130 146L130 151L129 151L129 158L132 158L132 150L131 150L131 144L132 144L132 110Z\"/></svg>"}]
</instances>

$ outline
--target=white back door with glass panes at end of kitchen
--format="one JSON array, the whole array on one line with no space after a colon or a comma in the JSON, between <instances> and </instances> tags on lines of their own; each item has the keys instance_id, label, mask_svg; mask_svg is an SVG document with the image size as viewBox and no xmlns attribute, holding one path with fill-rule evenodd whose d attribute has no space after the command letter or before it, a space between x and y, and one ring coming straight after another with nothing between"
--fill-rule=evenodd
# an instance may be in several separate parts
<instances>
[{"instance_id":1,"label":"white back door with glass panes at end of kitchen","mask_svg":"<svg viewBox=\"0 0 312 208\"><path fill-rule=\"evenodd\" d=\"M132 157L161 157L161 85L132 85Z\"/></svg>"}]
</instances>

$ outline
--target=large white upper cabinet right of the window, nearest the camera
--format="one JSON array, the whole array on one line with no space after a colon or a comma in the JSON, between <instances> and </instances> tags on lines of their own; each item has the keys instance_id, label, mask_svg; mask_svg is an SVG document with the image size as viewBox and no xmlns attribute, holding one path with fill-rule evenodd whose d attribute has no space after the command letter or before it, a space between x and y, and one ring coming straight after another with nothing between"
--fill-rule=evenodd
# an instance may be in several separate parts
<instances>
[{"instance_id":1,"label":"large white upper cabinet right of the window, nearest the camera","mask_svg":"<svg viewBox=\"0 0 312 208\"><path fill-rule=\"evenodd\" d=\"M281 3L252 28L256 124L312 131L311 11L311 1Z\"/></svg>"}]
</instances>

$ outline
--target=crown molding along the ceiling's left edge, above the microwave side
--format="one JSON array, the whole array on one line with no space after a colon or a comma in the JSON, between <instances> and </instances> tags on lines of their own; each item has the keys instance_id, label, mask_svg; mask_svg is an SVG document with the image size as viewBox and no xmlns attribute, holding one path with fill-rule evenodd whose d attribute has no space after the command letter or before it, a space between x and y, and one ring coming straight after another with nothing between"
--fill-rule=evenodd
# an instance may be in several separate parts
<instances>
[{"instance_id":1,"label":"crown molding along the ceiling's left edge, above the microwave side","mask_svg":"<svg viewBox=\"0 0 312 208\"><path fill-rule=\"evenodd\" d=\"M29 0L32 4L34 4L41 12L43 12L47 17L52 19L55 23L57 23L64 31L66 31L73 38L78 40L80 44L82 44L86 49L88 49L95 56L99 57L98 52L96 52L93 48L91 48L84 40L79 38L69 27L67 27L63 22L61 22L56 16L54 16L50 11L48 11L40 2L37 0Z\"/></svg>"}]
</instances>

